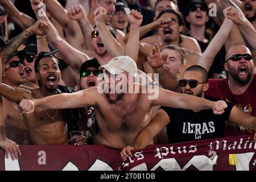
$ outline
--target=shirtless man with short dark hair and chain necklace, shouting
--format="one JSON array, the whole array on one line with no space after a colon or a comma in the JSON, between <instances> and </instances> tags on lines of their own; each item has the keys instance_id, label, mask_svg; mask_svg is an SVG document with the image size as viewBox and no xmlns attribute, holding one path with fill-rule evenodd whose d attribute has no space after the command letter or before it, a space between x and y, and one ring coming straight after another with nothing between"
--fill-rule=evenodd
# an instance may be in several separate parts
<instances>
[{"instance_id":1,"label":"shirtless man with short dark hair and chain necklace, shouting","mask_svg":"<svg viewBox=\"0 0 256 182\"><path fill-rule=\"evenodd\" d=\"M18 104L23 98L42 98L62 92L63 86L58 85L61 76L59 61L53 56L54 52L56 51L40 52L35 60L35 72L40 80L40 88L28 91L1 84L0 94ZM68 130L71 128L69 123L72 121L66 120L70 119L67 113L68 110L36 109L34 114L23 114L30 129L32 143L68 144ZM76 127L75 123L71 124Z\"/></svg>"}]
</instances>

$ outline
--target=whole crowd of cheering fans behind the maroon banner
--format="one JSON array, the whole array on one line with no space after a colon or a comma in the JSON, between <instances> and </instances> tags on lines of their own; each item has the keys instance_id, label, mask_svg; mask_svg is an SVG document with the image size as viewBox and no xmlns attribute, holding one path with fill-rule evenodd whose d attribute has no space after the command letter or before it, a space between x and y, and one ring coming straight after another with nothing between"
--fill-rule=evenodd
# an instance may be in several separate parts
<instances>
[{"instance_id":1,"label":"whole crowd of cheering fans behind the maroon banner","mask_svg":"<svg viewBox=\"0 0 256 182\"><path fill-rule=\"evenodd\" d=\"M256 140L256 1L0 5L7 157L17 144L104 144L126 159L149 144Z\"/></svg>"}]
</instances>

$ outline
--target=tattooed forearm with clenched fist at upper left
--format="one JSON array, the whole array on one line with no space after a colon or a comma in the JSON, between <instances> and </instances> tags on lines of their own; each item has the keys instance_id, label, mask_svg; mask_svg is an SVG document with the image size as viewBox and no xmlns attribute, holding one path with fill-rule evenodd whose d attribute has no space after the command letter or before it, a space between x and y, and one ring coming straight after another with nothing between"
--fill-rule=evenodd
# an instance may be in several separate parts
<instances>
[{"instance_id":1,"label":"tattooed forearm with clenched fist at upper left","mask_svg":"<svg viewBox=\"0 0 256 182\"><path fill-rule=\"evenodd\" d=\"M0 57L2 59L2 63L5 64L7 58L14 53L18 47L23 44L30 36L32 35L44 35L44 23L42 20L38 20L32 26L26 28L22 33L15 36L15 38L11 39L5 46L3 46L0 50Z\"/></svg>"}]
</instances>

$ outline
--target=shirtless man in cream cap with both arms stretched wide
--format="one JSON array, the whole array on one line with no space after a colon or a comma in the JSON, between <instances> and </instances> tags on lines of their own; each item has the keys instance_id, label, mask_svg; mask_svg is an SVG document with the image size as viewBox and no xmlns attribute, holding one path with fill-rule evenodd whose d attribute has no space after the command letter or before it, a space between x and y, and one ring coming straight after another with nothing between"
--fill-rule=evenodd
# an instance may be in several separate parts
<instances>
[{"instance_id":1,"label":"shirtless man in cream cap with both arms stretched wide","mask_svg":"<svg viewBox=\"0 0 256 182\"><path fill-rule=\"evenodd\" d=\"M133 145L139 131L148 125L154 105L213 109L215 114L222 114L226 108L224 101L212 102L156 86L135 84L138 69L135 61L129 56L115 57L100 69L105 69L102 82L104 89L99 85L98 88L93 87L72 94L23 100L20 102L23 112L30 114L39 110L39 107L64 109L93 105L100 129L96 143L122 149L128 144Z\"/></svg>"}]
</instances>

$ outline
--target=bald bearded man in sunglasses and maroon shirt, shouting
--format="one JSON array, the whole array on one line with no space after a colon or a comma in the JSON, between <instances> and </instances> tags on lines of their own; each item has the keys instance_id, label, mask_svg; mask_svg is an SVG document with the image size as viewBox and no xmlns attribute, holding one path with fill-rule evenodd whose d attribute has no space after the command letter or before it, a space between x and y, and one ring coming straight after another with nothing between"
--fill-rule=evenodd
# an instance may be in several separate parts
<instances>
[{"instance_id":1,"label":"bald bearded man in sunglasses and maroon shirt, shouting","mask_svg":"<svg viewBox=\"0 0 256 182\"><path fill-rule=\"evenodd\" d=\"M225 56L224 67L228 71L228 78L209 79L210 88L205 92L206 96L218 98L236 104L246 113L256 116L256 92L255 75L253 74L253 58L249 48L243 45L231 47ZM227 136L252 134L254 131L242 126L233 130L228 127Z\"/></svg>"}]
</instances>

